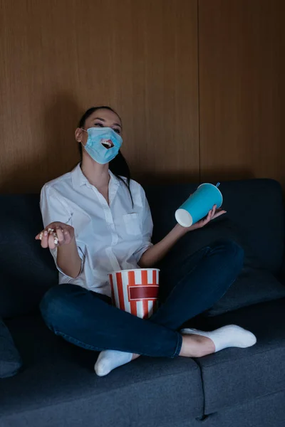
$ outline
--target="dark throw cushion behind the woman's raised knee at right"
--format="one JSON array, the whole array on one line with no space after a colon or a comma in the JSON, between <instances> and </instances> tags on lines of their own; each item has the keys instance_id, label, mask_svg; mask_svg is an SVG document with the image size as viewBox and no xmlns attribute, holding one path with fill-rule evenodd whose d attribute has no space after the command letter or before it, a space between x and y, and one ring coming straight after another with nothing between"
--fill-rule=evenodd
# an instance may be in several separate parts
<instances>
[{"instance_id":1,"label":"dark throw cushion behind the woman's raised knee at right","mask_svg":"<svg viewBox=\"0 0 285 427\"><path fill-rule=\"evenodd\" d=\"M220 238L236 241L244 248L244 268L221 300L204 315L219 315L247 305L285 297L285 286L268 270L261 268L246 236L243 236L242 230L227 215L220 216L204 228L192 231L182 238L160 263L161 279L176 283L181 278L187 258Z\"/></svg>"}]
</instances>

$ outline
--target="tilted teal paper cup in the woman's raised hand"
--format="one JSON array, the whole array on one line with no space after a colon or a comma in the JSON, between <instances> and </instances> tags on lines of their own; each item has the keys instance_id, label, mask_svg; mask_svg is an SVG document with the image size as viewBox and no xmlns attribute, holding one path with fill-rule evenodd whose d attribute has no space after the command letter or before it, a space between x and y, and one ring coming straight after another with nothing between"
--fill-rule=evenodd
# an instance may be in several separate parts
<instances>
[{"instance_id":1,"label":"tilted teal paper cup in the woman's raised hand","mask_svg":"<svg viewBox=\"0 0 285 427\"><path fill-rule=\"evenodd\" d=\"M222 206L222 193L213 184L201 184L195 193L180 206L175 212L177 223L182 227L190 227L200 219L207 216L214 205Z\"/></svg>"}]
</instances>

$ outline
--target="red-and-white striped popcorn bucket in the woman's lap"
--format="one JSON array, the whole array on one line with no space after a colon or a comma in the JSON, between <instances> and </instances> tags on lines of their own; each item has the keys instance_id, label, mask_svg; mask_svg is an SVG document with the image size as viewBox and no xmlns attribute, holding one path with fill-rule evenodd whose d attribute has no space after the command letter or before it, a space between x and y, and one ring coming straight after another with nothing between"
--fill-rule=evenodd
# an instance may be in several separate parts
<instances>
[{"instance_id":1,"label":"red-and-white striped popcorn bucket in the woman's lap","mask_svg":"<svg viewBox=\"0 0 285 427\"><path fill-rule=\"evenodd\" d=\"M157 308L159 272L142 268L110 273L113 305L142 319L150 317Z\"/></svg>"}]
</instances>

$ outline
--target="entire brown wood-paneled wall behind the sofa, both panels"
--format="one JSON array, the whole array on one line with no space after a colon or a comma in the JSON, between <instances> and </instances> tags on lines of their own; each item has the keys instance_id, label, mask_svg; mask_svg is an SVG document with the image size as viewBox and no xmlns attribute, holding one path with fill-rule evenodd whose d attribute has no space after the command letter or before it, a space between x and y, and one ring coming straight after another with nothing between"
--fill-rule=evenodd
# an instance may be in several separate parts
<instances>
[{"instance_id":1,"label":"entire brown wood-paneled wall behind the sofa, both panels","mask_svg":"<svg viewBox=\"0 0 285 427\"><path fill-rule=\"evenodd\" d=\"M0 191L71 169L99 104L137 179L285 185L284 17L283 0L0 0Z\"/></svg>"}]
</instances>

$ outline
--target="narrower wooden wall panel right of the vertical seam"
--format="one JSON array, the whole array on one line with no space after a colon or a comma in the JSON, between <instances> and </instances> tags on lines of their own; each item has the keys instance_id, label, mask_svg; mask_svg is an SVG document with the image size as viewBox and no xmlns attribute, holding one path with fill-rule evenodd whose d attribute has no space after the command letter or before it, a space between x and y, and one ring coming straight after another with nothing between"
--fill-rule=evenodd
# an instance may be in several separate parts
<instances>
[{"instance_id":1,"label":"narrower wooden wall panel right of the vertical seam","mask_svg":"<svg viewBox=\"0 0 285 427\"><path fill-rule=\"evenodd\" d=\"M284 0L199 1L201 176L285 184Z\"/></svg>"}]
</instances>

